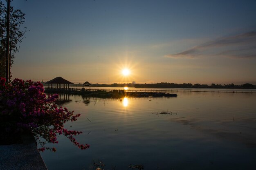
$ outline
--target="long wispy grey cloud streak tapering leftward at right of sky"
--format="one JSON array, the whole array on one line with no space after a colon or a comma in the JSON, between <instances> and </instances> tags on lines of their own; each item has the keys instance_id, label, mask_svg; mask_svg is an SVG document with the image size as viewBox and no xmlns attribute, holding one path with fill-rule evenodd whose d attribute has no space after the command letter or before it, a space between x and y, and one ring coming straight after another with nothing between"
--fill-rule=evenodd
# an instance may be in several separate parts
<instances>
[{"instance_id":1,"label":"long wispy grey cloud streak tapering leftward at right of sky","mask_svg":"<svg viewBox=\"0 0 256 170\"><path fill-rule=\"evenodd\" d=\"M165 55L165 57L170 58L196 58L200 56L256 57L256 31L218 38L180 53Z\"/></svg>"}]
</instances>

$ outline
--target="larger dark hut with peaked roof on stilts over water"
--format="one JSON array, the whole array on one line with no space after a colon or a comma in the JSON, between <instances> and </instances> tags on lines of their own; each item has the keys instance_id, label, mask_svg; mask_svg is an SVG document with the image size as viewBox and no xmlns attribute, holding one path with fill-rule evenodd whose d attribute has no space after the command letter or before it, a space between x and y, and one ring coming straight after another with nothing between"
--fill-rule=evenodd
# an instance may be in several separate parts
<instances>
[{"instance_id":1,"label":"larger dark hut with peaked roof on stilts over water","mask_svg":"<svg viewBox=\"0 0 256 170\"><path fill-rule=\"evenodd\" d=\"M63 79L62 77L56 77L45 84L48 84L49 91L68 91L70 90L70 84L74 84L72 82Z\"/></svg>"}]
</instances>

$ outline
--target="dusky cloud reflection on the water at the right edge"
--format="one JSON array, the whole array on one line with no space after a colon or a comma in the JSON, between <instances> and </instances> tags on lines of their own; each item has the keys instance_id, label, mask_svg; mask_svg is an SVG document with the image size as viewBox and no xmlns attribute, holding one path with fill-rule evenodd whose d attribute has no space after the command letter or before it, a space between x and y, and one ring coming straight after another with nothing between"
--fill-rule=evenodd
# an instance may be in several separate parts
<instances>
[{"instance_id":1,"label":"dusky cloud reflection on the water at the right edge","mask_svg":"<svg viewBox=\"0 0 256 170\"><path fill-rule=\"evenodd\" d=\"M202 121L200 119L172 118L171 121L190 126L191 129L209 134L222 141L240 142L249 148L256 148L255 118L237 118L235 121L232 119L225 121Z\"/></svg>"}]
</instances>

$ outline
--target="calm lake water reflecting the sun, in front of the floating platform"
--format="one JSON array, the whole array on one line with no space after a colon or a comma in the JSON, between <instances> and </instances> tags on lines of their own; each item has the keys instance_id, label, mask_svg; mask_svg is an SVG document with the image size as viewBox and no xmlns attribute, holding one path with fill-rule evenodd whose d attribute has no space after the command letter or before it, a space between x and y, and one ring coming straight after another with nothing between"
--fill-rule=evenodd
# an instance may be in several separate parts
<instances>
[{"instance_id":1,"label":"calm lake water reflecting the sun, in front of the floating platform","mask_svg":"<svg viewBox=\"0 0 256 170\"><path fill-rule=\"evenodd\" d=\"M69 129L83 131L76 139L90 148L80 150L61 136L50 145L57 152L41 153L48 169L94 170L99 160L105 170L127 170L130 164L144 170L256 167L256 93L173 93L178 97L69 96L61 105L81 113Z\"/></svg>"}]
</instances>

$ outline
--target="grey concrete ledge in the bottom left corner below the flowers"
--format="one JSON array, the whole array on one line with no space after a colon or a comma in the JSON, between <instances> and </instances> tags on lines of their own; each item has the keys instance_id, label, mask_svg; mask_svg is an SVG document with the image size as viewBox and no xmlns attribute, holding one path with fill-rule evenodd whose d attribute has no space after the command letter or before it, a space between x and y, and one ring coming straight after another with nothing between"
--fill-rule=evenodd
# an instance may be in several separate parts
<instances>
[{"instance_id":1,"label":"grey concrete ledge in the bottom left corner below the flowers","mask_svg":"<svg viewBox=\"0 0 256 170\"><path fill-rule=\"evenodd\" d=\"M35 143L0 145L0 170L47 170Z\"/></svg>"}]
</instances>

